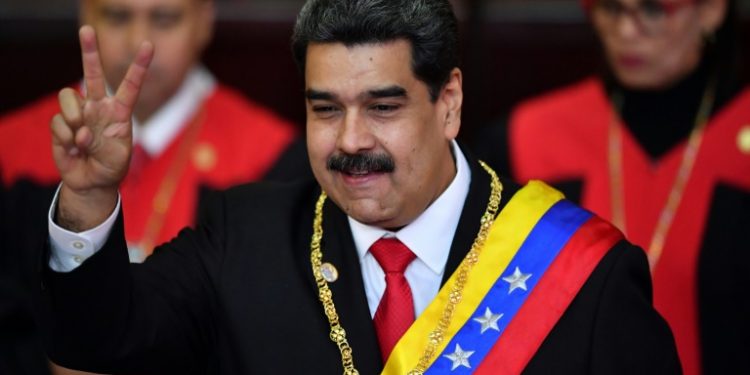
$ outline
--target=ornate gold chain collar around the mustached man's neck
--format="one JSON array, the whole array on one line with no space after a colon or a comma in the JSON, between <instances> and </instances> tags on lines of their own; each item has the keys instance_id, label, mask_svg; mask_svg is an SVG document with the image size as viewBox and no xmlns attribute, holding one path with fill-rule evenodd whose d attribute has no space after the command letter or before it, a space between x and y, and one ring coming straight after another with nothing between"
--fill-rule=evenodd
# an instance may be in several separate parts
<instances>
[{"instance_id":1,"label":"ornate gold chain collar around the mustached man's neck","mask_svg":"<svg viewBox=\"0 0 750 375\"><path fill-rule=\"evenodd\" d=\"M492 226L500 207L500 197L503 185L500 183L500 179L492 168L482 161L479 161L479 164L485 171L487 171L491 179L490 199L480 221L479 233L477 233L477 237L474 239L471 249L466 254L464 261L461 262L461 265L456 271L456 279L455 283L451 286L448 303L440 315L440 320L438 321L437 326L428 336L427 347L419 357L417 367L409 372L410 375L423 374L432 359L435 357L438 346L445 338L445 331L450 326L453 313L456 310L456 305L461 302L463 289L466 285L466 280L469 277L469 272L479 260L479 254L484 247L484 242L487 239L490 227ZM331 327L329 337L334 343L336 343L336 346L338 346L339 351L341 352L341 362L344 366L344 375L359 375L359 371L354 368L354 357L352 355L352 348L346 340L346 331L344 330L344 327L341 326L338 313L336 312L336 306L333 303L333 292L328 288L328 282L325 280L323 273L320 270L323 259L323 252L320 249L320 241L323 239L323 204L326 201L326 197L326 193L324 191L321 192L317 203L315 203L313 235L312 240L310 241L310 263L312 264L315 283L318 285L318 298L323 304L323 311L325 312L326 317L328 318L328 324Z\"/></svg>"}]
</instances>

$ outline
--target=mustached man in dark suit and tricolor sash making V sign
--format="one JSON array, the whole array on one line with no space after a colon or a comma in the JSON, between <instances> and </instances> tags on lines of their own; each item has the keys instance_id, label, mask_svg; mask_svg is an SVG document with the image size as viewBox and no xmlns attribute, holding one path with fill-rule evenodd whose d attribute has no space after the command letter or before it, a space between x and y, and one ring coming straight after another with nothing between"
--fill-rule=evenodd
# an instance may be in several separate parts
<instances>
[{"instance_id":1,"label":"mustached man in dark suit and tricolor sash making V sign","mask_svg":"<svg viewBox=\"0 0 750 375\"><path fill-rule=\"evenodd\" d=\"M140 265L127 261L117 186L153 47L114 97L86 26L81 47L87 96L62 93L51 124L63 183L36 306L53 360L158 374L680 372L641 250L454 141L447 0L309 1L293 50L315 180L229 190ZM557 212L573 215L552 223Z\"/></svg>"}]
</instances>

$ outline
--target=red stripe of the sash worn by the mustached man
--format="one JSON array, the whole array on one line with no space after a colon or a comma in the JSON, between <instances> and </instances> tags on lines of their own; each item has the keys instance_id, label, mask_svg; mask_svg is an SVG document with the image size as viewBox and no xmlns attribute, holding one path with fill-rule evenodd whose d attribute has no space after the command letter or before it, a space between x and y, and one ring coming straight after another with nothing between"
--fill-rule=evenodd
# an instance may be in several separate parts
<instances>
[{"instance_id":1,"label":"red stripe of the sash worn by the mustached man","mask_svg":"<svg viewBox=\"0 0 750 375\"><path fill-rule=\"evenodd\" d=\"M593 216L570 238L475 374L520 374L599 261L622 239Z\"/></svg>"}]
</instances>

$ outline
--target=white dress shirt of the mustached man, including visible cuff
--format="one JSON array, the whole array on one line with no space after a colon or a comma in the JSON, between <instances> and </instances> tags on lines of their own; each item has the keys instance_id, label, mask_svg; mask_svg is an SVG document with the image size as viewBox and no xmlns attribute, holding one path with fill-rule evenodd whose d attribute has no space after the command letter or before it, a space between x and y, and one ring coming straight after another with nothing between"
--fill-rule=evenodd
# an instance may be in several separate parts
<instances>
[{"instance_id":1,"label":"white dress shirt of the mustached man, including visible cuff","mask_svg":"<svg viewBox=\"0 0 750 375\"><path fill-rule=\"evenodd\" d=\"M427 210L409 225L398 232L390 232L349 218L371 316L375 316L380 298L385 291L385 273L369 249L383 236L398 238L417 256L404 272L412 290L414 312L417 316L427 308L440 290L445 264L461 216L457 213L463 209L471 182L471 171L466 158L455 141L451 143L451 147L456 158L456 176ZM56 202L57 195L49 211L52 251L49 265L55 271L69 272L104 246L120 210L120 201L118 198L117 207L104 223L81 233L67 231L55 224L52 215Z\"/></svg>"}]
</instances>

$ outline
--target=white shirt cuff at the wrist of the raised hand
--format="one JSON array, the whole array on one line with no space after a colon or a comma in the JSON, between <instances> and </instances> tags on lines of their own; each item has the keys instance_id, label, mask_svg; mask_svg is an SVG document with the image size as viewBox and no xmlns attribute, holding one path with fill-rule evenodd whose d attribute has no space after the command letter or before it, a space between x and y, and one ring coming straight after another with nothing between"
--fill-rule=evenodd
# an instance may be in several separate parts
<instances>
[{"instance_id":1,"label":"white shirt cuff at the wrist of the raised hand","mask_svg":"<svg viewBox=\"0 0 750 375\"><path fill-rule=\"evenodd\" d=\"M117 195L117 206L107 220L96 228L75 233L60 227L53 219L57 209L60 187L62 187L62 183L57 187L47 219L51 248L49 267L56 272L70 272L99 251L107 242L109 233L117 219L117 214L120 212L120 195Z\"/></svg>"}]
</instances>

